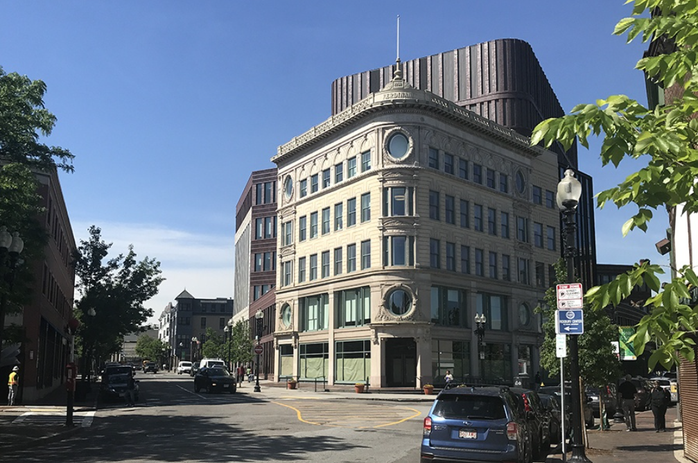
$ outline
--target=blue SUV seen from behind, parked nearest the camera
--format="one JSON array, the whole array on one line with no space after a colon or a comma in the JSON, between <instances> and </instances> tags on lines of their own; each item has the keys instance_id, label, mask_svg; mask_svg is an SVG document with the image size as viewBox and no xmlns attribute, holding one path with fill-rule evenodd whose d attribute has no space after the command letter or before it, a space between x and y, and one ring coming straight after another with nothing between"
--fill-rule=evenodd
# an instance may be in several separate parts
<instances>
[{"instance_id":1,"label":"blue SUV seen from behind, parked nearest the camera","mask_svg":"<svg viewBox=\"0 0 698 463\"><path fill-rule=\"evenodd\" d=\"M424 418L421 462L530 463L531 413L506 387L447 387Z\"/></svg>"}]
</instances>

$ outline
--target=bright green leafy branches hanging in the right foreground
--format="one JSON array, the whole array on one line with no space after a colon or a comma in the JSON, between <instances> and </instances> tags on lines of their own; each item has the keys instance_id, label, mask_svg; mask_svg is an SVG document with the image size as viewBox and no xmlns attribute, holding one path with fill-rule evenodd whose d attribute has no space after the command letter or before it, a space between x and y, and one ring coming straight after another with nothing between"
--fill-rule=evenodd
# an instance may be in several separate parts
<instances>
[{"instance_id":1,"label":"bright green leafy branches hanging in the right foreground","mask_svg":"<svg viewBox=\"0 0 698 463\"><path fill-rule=\"evenodd\" d=\"M626 159L645 161L643 168L597 196L597 207L613 203L631 206L634 214L623 225L623 235L634 228L646 231L653 210L665 207L669 226L674 229L678 208L698 212L698 195L693 194L698 177L698 3L685 0L631 0L632 17L616 24L614 34L628 34L628 43L661 40L673 45L671 52L644 57L637 68L664 89L674 89L681 98L657 108L645 108L625 95L609 96L591 104L577 105L570 115L547 119L534 129L531 144L553 142L569 148L575 138L588 148L588 137L602 136L603 166L618 165ZM642 17L651 16L651 17ZM637 284L647 284L657 294L646 301L650 313L637 325L633 337L637 353L656 342L649 358L654 369L659 362L669 369L681 357L694 360L695 341L687 336L698 328L698 310L690 307L690 289L698 287L692 268L674 269L676 276L663 286L659 265L634 265L609 284L591 288L586 301L594 310L618 304Z\"/></svg>"}]
</instances>

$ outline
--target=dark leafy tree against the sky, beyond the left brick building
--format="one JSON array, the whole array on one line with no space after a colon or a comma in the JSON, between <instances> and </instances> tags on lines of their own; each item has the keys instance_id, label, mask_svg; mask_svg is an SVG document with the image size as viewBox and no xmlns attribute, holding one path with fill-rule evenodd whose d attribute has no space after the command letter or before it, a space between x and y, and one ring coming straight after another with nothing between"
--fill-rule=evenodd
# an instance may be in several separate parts
<instances>
[{"instance_id":1,"label":"dark leafy tree against the sky, beyond the left brick building","mask_svg":"<svg viewBox=\"0 0 698 463\"><path fill-rule=\"evenodd\" d=\"M163 278L160 263L147 257L136 260L133 246L125 256L107 259L112 244L102 240L96 226L89 228L89 235L73 255L80 293L75 316L81 322L76 346L83 357L101 358L119 351L124 335L142 330L153 314L143 303L158 293Z\"/></svg>"}]
</instances>

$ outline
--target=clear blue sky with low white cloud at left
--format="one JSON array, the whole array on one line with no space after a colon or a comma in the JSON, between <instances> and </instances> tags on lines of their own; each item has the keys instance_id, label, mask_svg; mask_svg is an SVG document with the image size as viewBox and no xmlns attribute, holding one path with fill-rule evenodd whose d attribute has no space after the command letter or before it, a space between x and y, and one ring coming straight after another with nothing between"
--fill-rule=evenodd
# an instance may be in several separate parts
<instances>
[{"instance_id":1,"label":"clear blue sky with low white cloud at left","mask_svg":"<svg viewBox=\"0 0 698 463\"><path fill-rule=\"evenodd\" d=\"M343 75L496 38L532 45L565 111L611 94L646 102L634 64L646 45L611 33L623 0L10 1L0 0L0 66L47 84L50 145L75 154L61 175L77 240L100 226L115 251L161 260L159 314L182 289L233 297L235 205L253 170L330 115ZM632 166L602 168L595 189ZM637 166L636 166L637 168ZM597 212L600 263L667 264L649 233L621 235L631 208Z\"/></svg>"}]
</instances>

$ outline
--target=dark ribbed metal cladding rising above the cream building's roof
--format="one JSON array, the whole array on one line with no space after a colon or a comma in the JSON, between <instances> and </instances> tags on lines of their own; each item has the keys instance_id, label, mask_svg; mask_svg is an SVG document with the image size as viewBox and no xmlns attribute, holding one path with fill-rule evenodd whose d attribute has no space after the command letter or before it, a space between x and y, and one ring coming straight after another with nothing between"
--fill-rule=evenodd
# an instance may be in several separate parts
<instances>
[{"instance_id":1,"label":"dark ribbed metal cladding rising above the cream building's roof","mask_svg":"<svg viewBox=\"0 0 698 463\"><path fill-rule=\"evenodd\" d=\"M533 49L525 41L499 39L470 45L400 64L406 80L478 115L530 136L549 117L565 114ZM383 88L395 65L346 75L332 82L332 115ZM577 146L565 153L560 165L577 168Z\"/></svg>"}]
</instances>

